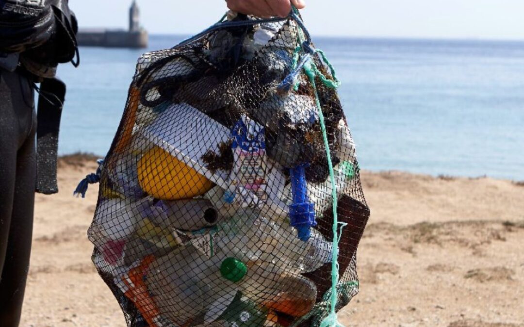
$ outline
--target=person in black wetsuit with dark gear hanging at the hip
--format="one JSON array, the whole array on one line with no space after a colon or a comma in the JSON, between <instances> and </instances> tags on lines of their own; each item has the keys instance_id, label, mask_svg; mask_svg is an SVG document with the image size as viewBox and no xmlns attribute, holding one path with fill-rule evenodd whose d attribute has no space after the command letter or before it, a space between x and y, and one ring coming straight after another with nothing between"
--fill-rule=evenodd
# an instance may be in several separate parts
<instances>
[{"instance_id":1,"label":"person in black wetsuit with dark gear hanging at the hip","mask_svg":"<svg viewBox=\"0 0 524 327\"><path fill-rule=\"evenodd\" d=\"M16 327L20 321L35 190L58 191L57 112L65 85L53 77L57 65L73 62L75 55L73 64L79 64L77 31L68 0L0 0L0 327ZM40 93L49 102L39 104L40 130L31 81L41 83Z\"/></svg>"}]
</instances>

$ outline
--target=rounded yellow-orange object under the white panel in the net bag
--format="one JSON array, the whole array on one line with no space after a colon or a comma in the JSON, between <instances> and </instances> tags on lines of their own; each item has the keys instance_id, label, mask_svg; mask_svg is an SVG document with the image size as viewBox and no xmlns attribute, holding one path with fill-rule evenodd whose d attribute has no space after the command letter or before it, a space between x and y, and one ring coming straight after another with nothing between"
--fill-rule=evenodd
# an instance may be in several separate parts
<instances>
[{"instance_id":1,"label":"rounded yellow-orange object under the white panel in the net bag","mask_svg":"<svg viewBox=\"0 0 524 327\"><path fill-rule=\"evenodd\" d=\"M161 200L190 199L213 187L208 178L158 146L138 162L138 182L147 194Z\"/></svg>"}]
</instances>

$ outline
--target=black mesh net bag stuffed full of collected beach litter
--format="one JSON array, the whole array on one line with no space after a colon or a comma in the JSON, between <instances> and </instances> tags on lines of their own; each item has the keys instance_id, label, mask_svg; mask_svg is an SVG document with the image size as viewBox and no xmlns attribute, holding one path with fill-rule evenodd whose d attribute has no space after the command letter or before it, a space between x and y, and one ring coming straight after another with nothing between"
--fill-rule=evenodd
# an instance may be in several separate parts
<instances>
[{"instance_id":1,"label":"black mesh net bag stuffed full of collected beach litter","mask_svg":"<svg viewBox=\"0 0 524 327\"><path fill-rule=\"evenodd\" d=\"M138 60L89 229L129 326L319 325L357 294L369 210L314 53L296 13L230 13Z\"/></svg>"}]
</instances>

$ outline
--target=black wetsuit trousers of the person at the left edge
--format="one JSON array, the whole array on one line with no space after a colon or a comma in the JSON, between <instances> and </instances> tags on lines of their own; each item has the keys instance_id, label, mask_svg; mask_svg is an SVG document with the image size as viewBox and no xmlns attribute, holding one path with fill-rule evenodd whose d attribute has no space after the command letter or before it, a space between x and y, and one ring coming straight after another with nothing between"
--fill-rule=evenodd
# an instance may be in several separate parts
<instances>
[{"instance_id":1,"label":"black wetsuit trousers of the person at the left edge","mask_svg":"<svg viewBox=\"0 0 524 327\"><path fill-rule=\"evenodd\" d=\"M0 66L0 326L17 326L35 202L36 113L27 77Z\"/></svg>"}]
</instances>

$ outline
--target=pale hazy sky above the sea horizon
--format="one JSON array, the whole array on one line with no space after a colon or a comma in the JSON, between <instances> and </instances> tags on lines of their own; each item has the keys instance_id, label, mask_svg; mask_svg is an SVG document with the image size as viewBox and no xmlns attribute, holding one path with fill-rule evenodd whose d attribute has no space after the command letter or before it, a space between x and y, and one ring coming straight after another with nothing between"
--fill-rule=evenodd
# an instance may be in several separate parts
<instances>
[{"instance_id":1,"label":"pale hazy sky above the sea horizon","mask_svg":"<svg viewBox=\"0 0 524 327\"><path fill-rule=\"evenodd\" d=\"M262 1L262 0L260 0ZM524 40L524 0L306 0L315 36ZM81 28L127 28L131 0L70 0ZM192 34L218 20L223 0L137 0L150 33Z\"/></svg>"}]
</instances>

